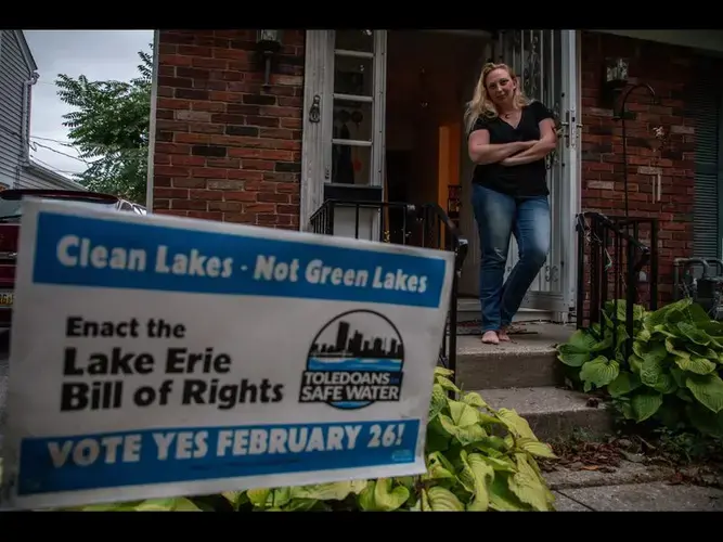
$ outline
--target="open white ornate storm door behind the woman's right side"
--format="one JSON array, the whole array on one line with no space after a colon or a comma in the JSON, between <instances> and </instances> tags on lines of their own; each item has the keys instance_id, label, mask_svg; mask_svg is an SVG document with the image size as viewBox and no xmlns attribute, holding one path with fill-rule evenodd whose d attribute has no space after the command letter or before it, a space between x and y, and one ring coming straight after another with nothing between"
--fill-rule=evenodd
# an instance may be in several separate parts
<instances>
[{"instance_id":1,"label":"open white ornate storm door behind the woman's right side","mask_svg":"<svg viewBox=\"0 0 723 542\"><path fill-rule=\"evenodd\" d=\"M573 232L579 184L576 46L574 30L500 30L493 46L494 57L516 72L527 96L544 103L558 120L557 151L547 159L551 251L522 301L522 308L555 312L555 320L566 320L574 299ZM517 259L513 238L507 273Z\"/></svg>"}]
</instances>

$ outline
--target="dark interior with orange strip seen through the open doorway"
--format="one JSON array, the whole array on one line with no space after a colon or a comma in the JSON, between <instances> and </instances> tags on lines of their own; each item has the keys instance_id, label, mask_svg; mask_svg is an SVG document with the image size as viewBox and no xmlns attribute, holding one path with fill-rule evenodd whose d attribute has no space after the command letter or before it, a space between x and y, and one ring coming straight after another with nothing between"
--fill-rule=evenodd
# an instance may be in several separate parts
<instances>
[{"instance_id":1,"label":"dark interior with orange strip seen through the open doorway","mask_svg":"<svg viewBox=\"0 0 723 542\"><path fill-rule=\"evenodd\" d=\"M436 203L455 220L461 172L469 160L463 114L489 54L490 39L482 30L387 31L384 182L388 202ZM476 231L463 234L476 235Z\"/></svg>"}]
</instances>

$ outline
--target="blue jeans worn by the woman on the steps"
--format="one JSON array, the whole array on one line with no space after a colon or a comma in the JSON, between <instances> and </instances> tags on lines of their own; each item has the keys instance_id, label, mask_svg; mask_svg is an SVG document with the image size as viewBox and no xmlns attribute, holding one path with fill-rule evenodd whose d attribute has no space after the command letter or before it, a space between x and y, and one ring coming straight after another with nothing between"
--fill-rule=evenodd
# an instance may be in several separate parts
<instances>
[{"instance_id":1,"label":"blue jeans worn by the woman on the steps","mask_svg":"<svg viewBox=\"0 0 723 542\"><path fill-rule=\"evenodd\" d=\"M482 332L509 325L550 250L547 196L512 197L473 184L473 207L479 229L481 262L479 301ZM515 235L519 260L503 284L509 236Z\"/></svg>"}]
</instances>

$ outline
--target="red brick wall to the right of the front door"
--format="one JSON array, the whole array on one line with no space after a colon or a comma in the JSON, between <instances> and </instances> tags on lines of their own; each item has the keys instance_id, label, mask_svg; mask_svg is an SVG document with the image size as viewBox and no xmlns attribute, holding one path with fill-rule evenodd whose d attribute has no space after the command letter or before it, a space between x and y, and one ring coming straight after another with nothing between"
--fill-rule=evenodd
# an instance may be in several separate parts
<instances>
[{"instance_id":1,"label":"red brick wall to the right of the front door","mask_svg":"<svg viewBox=\"0 0 723 542\"><path fill-rule=\"evenodd\" d=\"M631 82L647 82L659 99L650 104L644 89L634 91L627 108L628 182L631 216L657 216L659 223L659 292L672 293L672 261L692 256L694 197L694 121L686 112L686 89L694 82L698 59L692 50L612 35L582 37L582 207L615 216L624 214L620 121L601 105L605 57L629 61ZM669 140L660 152L650 147L654 128L662 126ZM653 183L661 176L660 201ZM649 237L644 238L649 242Z\"/></svg>"}]
</instances>

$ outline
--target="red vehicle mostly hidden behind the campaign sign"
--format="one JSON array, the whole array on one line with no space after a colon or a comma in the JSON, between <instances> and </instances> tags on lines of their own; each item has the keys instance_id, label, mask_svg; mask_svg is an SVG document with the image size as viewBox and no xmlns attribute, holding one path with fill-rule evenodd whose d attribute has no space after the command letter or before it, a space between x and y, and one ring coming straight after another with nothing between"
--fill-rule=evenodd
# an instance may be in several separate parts
<instances>
[{"instance_id":1,"label":"red vehicle mostly hidden behind the campaign sign","mask_svg":"<svg viewBox=\"0 0 723 542\"><path fill-rule=\"evenodd\" d=\"M145 209L109 194L74 190L4 190L0 192L0 330L12 322L17 240L24 197L42 197L66 202L95 204L112 210L145 215Z\"/></svg>"}]
</instances>

